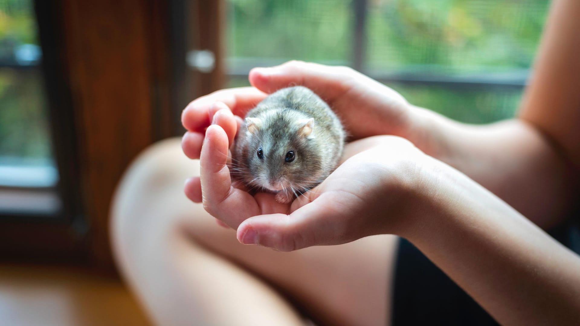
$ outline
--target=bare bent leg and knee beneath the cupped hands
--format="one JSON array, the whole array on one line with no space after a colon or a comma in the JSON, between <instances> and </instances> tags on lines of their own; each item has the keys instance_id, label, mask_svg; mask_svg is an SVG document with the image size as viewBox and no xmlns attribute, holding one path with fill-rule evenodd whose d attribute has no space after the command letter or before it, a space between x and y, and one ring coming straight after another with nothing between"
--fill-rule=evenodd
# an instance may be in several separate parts
<instances>
[{"instance_id":1,"label":"bare bent leg and knee beneath the cupped hands","mask_svg":"<svg viewBox=\"0 0 580 326\"><path fill-rule=\"evenodd\" d=\"M179 139L165 140L137 158L114 198L119 263L158 324L304 324L295 305L321 324L388 323L395 237L289 253L241 245L183 195L197 173Z\"/></svg>"}]
</instances>

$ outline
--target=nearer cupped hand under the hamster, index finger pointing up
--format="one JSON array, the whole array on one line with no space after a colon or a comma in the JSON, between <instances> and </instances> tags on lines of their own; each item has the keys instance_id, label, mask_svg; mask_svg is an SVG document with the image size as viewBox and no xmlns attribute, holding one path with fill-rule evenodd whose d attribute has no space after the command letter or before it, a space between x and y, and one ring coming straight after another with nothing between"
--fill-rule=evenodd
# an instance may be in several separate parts
<instances>
[{"instance_id":1,"label":"nearer cupped hand under the hamster, index finger pointing up","mask_svg":"<svg viewBox=\"0 0 580 326\"><path fill-rule=\"evenodd\" d=\"M206 131L200 179L186 185L193 201L238 240L280 251L354 241L372 234L400 233L411 223L409 207L427 155L407 140L376 136L347 144L339 167L318 187L280 204L274 194L251 195L232 185L229 140L220 125Z\"/></svg>"}]
</instances>

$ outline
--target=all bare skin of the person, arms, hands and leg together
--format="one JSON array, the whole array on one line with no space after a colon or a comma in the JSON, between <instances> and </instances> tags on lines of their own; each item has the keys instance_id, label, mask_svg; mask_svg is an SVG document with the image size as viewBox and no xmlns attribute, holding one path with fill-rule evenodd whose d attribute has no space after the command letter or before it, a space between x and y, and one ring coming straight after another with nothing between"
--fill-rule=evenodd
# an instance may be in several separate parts
<instances>
[{"instance_id":1,"label":"all bare skin of the person, arms, hands and leg together","mask_svg":"<svg viewBox=\"0 0 580 326\"><path fill-rule=\"evenodd\" d=\"M230 323L252 324L256 316L301 323L291 305L260 283L265 280L303 303L320 324L384 325L390 305L376 289L388 287L383 278L391 260L378 257L392 255L385 248L393 247L389 236L367 236L389 233L413 242L501 324L580 323L580 259L542 230L567 219L579 194L578 15L580 2L553 2L519 116L498 124L459 124L408 104L349 68L296 61L252 70L252 88L195 100L183 112L188 132L182 147L188 157L201 157L200 177L185 186L191 201L203 202L195 206L196 217L184 213L193 209L181 201L168 211L174 182L156 182L184 173L171 169L147 178L161 165L151 163L159 157L154 153L137 161L115 199L115 248L133 287L165 324L184 324L179 318L227 324L216 307L235 316ZM225 163L236 116L289 84L305 85L327 100L356 142L317 189L282 205L269 194L231 187ZM378 136L386 134L393 136ZM162 216L151 213L155 205ZM201 207L235 234L200 222ZM140 231L127 226L132 221L139 221ZM234 236L263 247L240 245ZM150 242L151 251L143 251ZM160 278L173 286L155 287ZM182 300L169 309L155 298Z\"/></svg>"}]
</instances>

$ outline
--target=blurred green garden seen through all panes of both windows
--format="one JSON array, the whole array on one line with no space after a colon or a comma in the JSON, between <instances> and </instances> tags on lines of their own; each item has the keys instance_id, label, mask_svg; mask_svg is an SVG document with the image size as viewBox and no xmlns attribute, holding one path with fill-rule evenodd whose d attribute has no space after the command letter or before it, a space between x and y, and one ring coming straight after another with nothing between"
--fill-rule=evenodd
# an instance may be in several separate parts
<instances>
[{"instance_id":1,"label":"blurred green garden seen through all panes of both windows","mask_svg":"<svg viewBox=\"0 0 580 326\"><path fill-rule=\"evenodd\" d=\"M244 74L253 66L290 59L353 63L353 1L226 3L229 86L247 85ZM522 88L494 81L525 80L548 7L539 0L368 0L361 70L391 76L386 84L409 102L459 121L512 117ZM10 66L21 64L15 53L28 44L38 44L31 0L0 0L0 157L50 157L39 68ZM461 82L409 84L397 82L397 75ZM490 85L465 82L481 78Z\"/></svg>"}]
</instances>

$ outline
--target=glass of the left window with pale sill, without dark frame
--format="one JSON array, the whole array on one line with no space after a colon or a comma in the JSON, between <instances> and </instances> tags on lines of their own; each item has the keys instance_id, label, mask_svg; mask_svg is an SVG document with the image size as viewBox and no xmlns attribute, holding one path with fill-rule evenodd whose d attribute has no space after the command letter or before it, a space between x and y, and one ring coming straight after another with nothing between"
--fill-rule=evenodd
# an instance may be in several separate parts
<instances>
[{"instance_id":1,"label":"glass of the left window with pale sill, without dark frame","mask_svg":"<svg viewBox=\"0 0 580 326\"><path fill-rule=\"evenodd\" d=\"M56 216L53 157L34 3L0 1L0 212Z\"/></svg>"}]
</instances>

